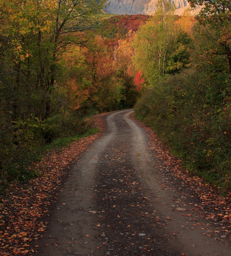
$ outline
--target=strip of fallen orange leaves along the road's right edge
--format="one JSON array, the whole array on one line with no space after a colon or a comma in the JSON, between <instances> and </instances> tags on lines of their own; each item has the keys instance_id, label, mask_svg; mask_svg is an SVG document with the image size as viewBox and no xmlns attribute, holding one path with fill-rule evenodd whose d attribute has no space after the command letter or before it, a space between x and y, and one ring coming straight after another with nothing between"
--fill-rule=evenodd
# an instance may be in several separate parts
<instances>
[{"instance_id":1,"label":"strip of fallen orange leaves along the road's right edge","mask_svg":"<svg viewBox=\"0 0 231 256\"><path fill-rule=\"evenodd\" d=\"M218 189L203 182L202 178L190 175L189 171L182 167L181 160L169 153L156 133L142 122L137 122L146 130L150 139L150 150L157 156L158 169L165 174L164 182L159 180L161 186L164 189L180 191L183 194L180 200L186 197L191 198L191 210L198 211L201 217L210 221L207 226L213 225L217 229L205 235L218 236L219 234L216 239L231 240L231 193L223 197ZM181 209L181 211L185 210L187 209Z\"/></svg>"}]
</instances>

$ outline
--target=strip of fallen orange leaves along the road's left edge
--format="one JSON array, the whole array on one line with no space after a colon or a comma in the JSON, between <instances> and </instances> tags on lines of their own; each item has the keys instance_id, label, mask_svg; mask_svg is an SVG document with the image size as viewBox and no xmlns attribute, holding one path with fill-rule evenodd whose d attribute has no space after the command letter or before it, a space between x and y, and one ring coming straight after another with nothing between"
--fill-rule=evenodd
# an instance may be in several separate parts
<instances>
[{"instance_id":1,"label":"strip of fallen orange leaves along the road's left edge","mask_svg":"<svg viewBox=\"0 0 231 256\"><path fill-rule=\"evenodd\" d=\"M104 130L100 115L95 116L95 126ZM58 199L62 178L73 160L99 136L90 135L49 152L30 167L38 177L27 184L11 184L0 201L0 255L33 255L36 240L46 229L42 216L49 215L49 206Z\"/></svg>"}]
</instances>

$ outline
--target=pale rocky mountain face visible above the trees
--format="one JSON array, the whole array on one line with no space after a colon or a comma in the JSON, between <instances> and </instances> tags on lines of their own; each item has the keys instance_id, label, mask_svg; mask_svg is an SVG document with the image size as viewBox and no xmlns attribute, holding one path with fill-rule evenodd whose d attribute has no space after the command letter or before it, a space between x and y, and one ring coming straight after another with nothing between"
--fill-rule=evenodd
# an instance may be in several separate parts
<instances>
[{"instance_id":1,"label":"pale rocky mountain face visible above the trees","mask_svg":"<svg viewBox=\"0 0 231 256\"><path fill-rule=\"evenodd\" d=\"M158 0L110 0L106 8L112 14L146 14L152 15L156 11ZM169 0L176 6L176 14L181 15L186 9L190 8L187 0ZM194 13L195 11L192 11Z\"/></svg>"}]
</instances>

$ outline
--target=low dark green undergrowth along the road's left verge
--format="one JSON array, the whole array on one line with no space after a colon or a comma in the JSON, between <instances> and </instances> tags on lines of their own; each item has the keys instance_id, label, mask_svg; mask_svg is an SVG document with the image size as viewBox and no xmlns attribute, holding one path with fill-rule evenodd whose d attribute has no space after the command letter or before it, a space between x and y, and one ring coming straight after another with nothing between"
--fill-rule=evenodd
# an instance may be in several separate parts
<instances>
[{"instance_id":1,"label":"low dark green undergrowth along the road's left verge","mask_svg":"<svg viewBox=\"0 0 231 256\"><path fill-rule=\"evenodd\" d=\"M38 119L20 122L14 136L8 134L0 148L0 193L4 193L11 182L27 182L36 177L37 171L29 167L40 161L47 152L59 150L97 132L99 128L93 126L90 117L70 118L68 122L57 119L47 119L46 123Z\"/></svg>"}]
</instances>

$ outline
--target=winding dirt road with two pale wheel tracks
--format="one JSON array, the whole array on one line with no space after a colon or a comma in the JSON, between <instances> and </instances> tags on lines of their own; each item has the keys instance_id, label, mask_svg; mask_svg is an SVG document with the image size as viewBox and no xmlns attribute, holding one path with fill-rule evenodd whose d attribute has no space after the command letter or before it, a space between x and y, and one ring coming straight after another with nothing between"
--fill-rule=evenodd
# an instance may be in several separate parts
<instances>
[{"instance_id":1,"label":"winding dirt road with two pale wheel tracks","mask_svg":"<svg viewBox=\"0 0 231 256\"><path fill-rule=\"evenodd\" d=\"M131 114L105 116L106 132L74 164L35 255L231 256L229 240L207 236L216 227L190 196L161 186L171 170L158 170Z\"/></svg>"}]
</instances>

